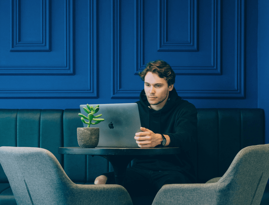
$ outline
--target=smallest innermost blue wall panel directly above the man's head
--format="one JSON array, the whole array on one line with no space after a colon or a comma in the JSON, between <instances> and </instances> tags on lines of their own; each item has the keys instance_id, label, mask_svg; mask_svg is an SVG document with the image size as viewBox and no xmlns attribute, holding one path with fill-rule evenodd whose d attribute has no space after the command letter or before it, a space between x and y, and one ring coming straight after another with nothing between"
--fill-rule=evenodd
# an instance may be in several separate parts
<instances>
[{"instance_id":1,"label":"smallest innermost blue wall panel directly above the man's head","mask_svg":"<svg viewBox=\"0 0 269 205\"><path fill-rule=\"evenodd\" d=\"M159 1L158 51L198 51L197 10L197 0Z\"/></svg>"}]
</instances>

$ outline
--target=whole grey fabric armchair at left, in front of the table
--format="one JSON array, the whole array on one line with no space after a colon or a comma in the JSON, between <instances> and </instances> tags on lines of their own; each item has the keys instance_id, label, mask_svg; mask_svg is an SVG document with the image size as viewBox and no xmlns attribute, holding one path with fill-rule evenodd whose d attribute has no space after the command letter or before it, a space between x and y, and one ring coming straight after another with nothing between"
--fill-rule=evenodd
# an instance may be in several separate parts
<instances>
[{"instance_id":1,"label":"whole grey fabric armchair at left, in front of the table","mask_svg":"<svg viewBox=\"0 0 269 205\"><path fill-rule=\"evenodd\" d=\"M130 195L120 185L73 183L46 149L2 146L0 163L18 205L132 205Z\"/></svg>"}]
</instances>

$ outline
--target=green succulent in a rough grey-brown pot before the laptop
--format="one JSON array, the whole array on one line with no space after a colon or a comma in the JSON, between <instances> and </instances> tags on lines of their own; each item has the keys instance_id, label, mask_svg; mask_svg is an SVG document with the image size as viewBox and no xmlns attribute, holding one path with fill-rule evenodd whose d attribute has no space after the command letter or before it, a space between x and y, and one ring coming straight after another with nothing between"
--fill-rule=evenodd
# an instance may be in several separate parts
<instances>
[{"instance_id":1,"label":"green succulent in a rough grey-brown pot before the laptop","mask_svg":"<svg viewBox=\"0 0 269 205\"><path fill-rule=\"evenodd\" d=\"M85 116L81 113L78 115L81 117L81 121L88 126L86 128L77 128L77 142L80 147L94 148L98 145L99 142L99 128L90 128L90 125L96 125L105 119L98 118L102 116L102 114L97 116L93 115L99 111L99 105L96 105L93 108L93 106L90 107L89 104L87 104L87 107L83 107L83 109L88 114L88 116ZM92 122L93 120L95 122Z\"/></svg>"}]
</instances>

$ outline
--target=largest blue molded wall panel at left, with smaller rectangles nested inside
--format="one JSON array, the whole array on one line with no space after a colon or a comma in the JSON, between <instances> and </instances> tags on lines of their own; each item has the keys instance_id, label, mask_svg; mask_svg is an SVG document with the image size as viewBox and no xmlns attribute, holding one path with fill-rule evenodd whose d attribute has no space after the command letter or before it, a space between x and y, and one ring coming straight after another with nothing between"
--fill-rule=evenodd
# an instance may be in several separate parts
<instances>
[{"instance_id":1,"label":"largest blue molded wall panel at left, with smaller rectangles nested inside","mask_svg":"<svg viewBox=\"0 0 269 205\"><path fill-rule=\"evenodd\" d=\"M3 16L9 11L11 14L10 21L6 19L0 22L1 28L5 28L0 33L3 54L0 55L0 98L96 98L97 2L79 1L77 8L73 0L30 3L26 0L11 0L10 4L5 2L0 8ZM38 11L27 14L27 9L23 9L27 5L31 10ZM75 9L82 10L81 7L84 12L75 15ZM23 10L20 12L20 9ZM79 15L80 19L75 19ZM27 27L28 22L23 21L29 18L36 18L36 24ZM27 28L38 27L37 22L40 22L40 31L26 35ZM75 30L76 22L80 25L76 24ZM47 29L47 26L50 28ZM42 33L44 29L45 33ZM83 32L80 32L82 29ZM50 33L47 33L48 30ZM75 31L82 42L76 40L77 50L81 53L76 52L74 47ZM7 33L9 36L12 33L14 38L6 38ZM49 50L38 49L41 45L38 45L38 39L42 40L43 37L49 40L44 41L50 44ZM32 42L29 42L31 39ZM17 43L13 44L13 48L20 46L22 50L10 52L10 42ZM33 50L27 50L29 45ZM77 61L78 68L75 70L75 57L79 59L80 56L83 56L82 61Z\"/></svg>"}]
</instances>

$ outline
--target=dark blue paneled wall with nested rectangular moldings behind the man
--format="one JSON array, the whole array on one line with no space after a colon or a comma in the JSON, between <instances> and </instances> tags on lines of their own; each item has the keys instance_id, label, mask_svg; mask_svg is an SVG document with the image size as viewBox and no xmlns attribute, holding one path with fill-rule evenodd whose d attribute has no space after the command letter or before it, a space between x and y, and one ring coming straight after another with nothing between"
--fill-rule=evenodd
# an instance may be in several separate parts
<instances>
[{"instance_id":1,"label":"dark blue paneled wall with nested rectangular moldings behind the man","mask_svg":"<svg viewBox=\"0 0 269 205\"><path fill-rule=\"evenodd\" d=\"M178 94L197 108L260 107L267 116L268 31L258 31L268 15L258 8L268 3L259 3L2 0L0 108L134 102L137 73L163 59Z\"/></svg>"}]
</instances>

